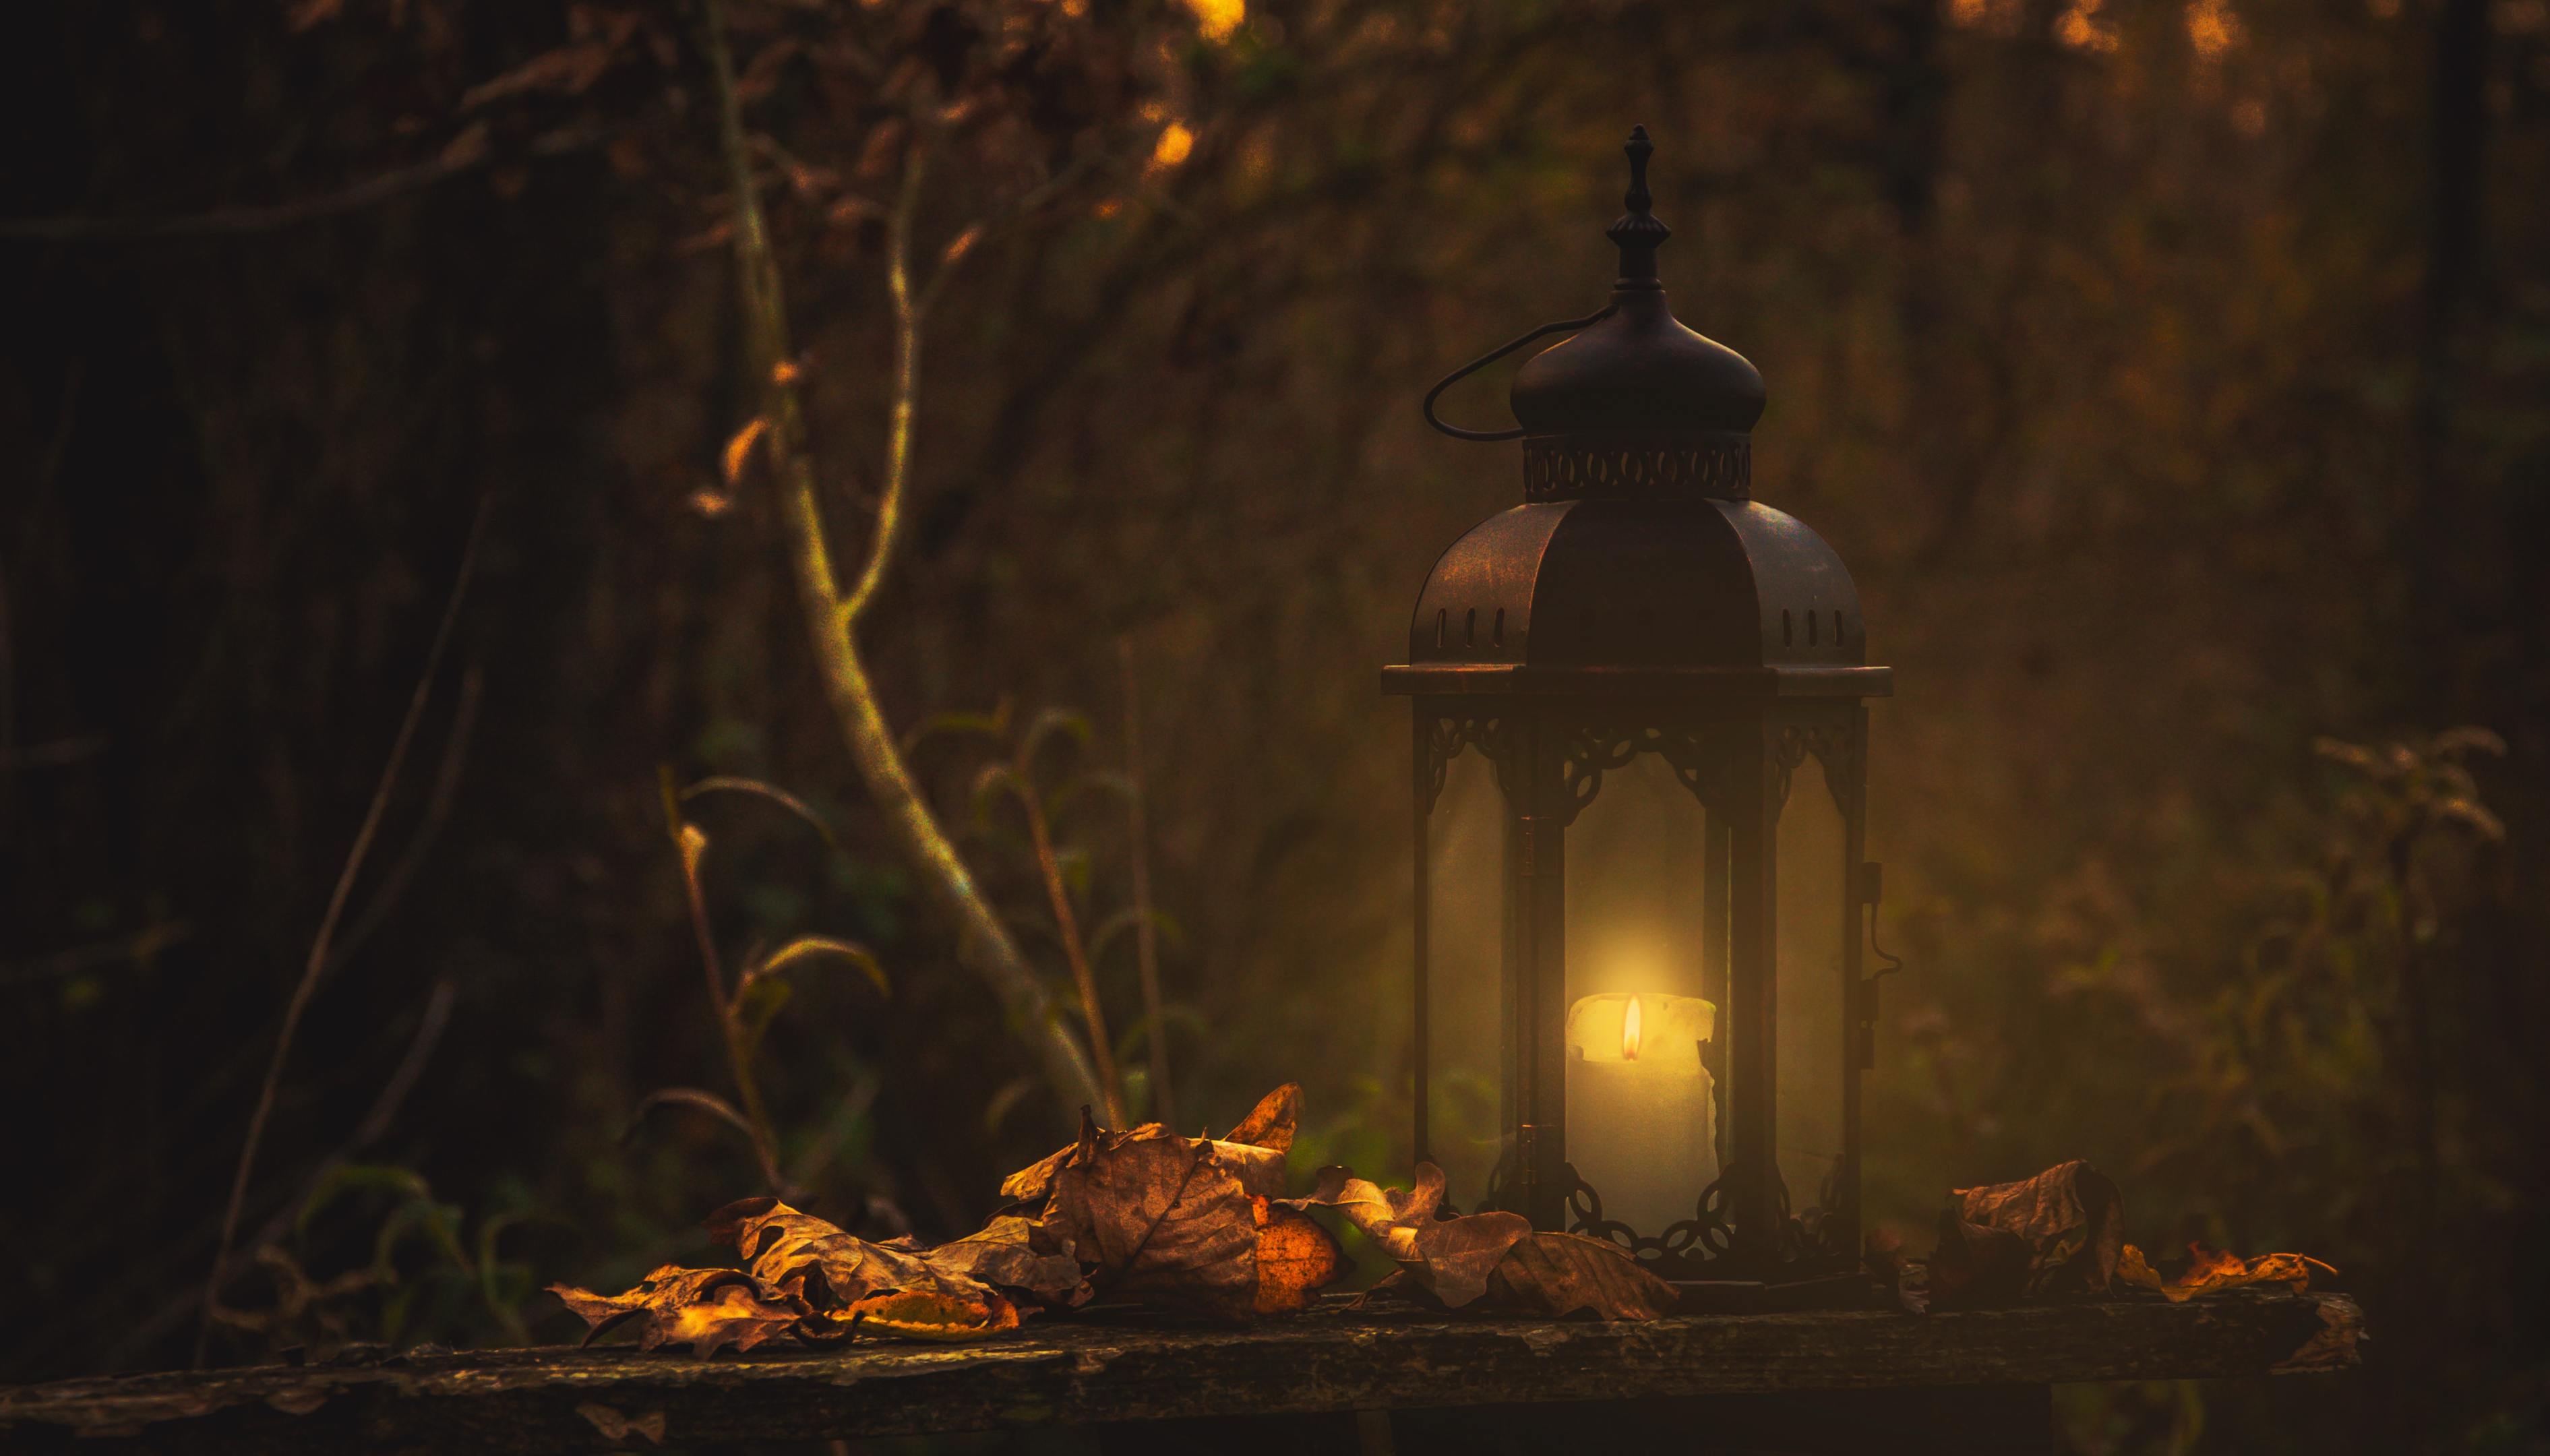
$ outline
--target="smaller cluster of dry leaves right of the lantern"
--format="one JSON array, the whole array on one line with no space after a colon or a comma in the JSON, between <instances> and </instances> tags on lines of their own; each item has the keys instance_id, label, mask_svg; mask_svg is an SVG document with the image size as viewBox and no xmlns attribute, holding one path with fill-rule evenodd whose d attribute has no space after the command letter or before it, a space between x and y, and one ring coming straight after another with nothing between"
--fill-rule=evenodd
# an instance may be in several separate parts
<instances>
[{"instance_id":1,"label":"smaller cluster of dry leaves right of the lantern","mask_svg":"<svg viewBox=\"0 0 2550 1456\"><path fill-rule=\"evenodd\" d=\"M2188 1244L2188 1267L2165 1280L2142 1249L2124 1242L2116 1183L2081 1160L2020 1183L1956 1188L1938 1216L1938 1249L1920 1267L1902 1257L1902 1239L1892 1232L1867 1237L1869 1275L1915 1313L2106 1295L2119 1285L2155 1290L2170 1303L2264 1283L2300 1293L2310 1288L2313 1265L2336 1272L2308 1255L2241 1260L2203 1244Z\"/></svg>"}]
</instances>

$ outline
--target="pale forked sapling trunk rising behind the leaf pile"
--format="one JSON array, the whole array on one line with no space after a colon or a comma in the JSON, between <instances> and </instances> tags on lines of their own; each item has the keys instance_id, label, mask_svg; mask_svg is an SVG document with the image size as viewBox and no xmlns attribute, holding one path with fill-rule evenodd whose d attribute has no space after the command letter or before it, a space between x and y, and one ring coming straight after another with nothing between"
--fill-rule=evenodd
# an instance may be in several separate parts
<instances>
[{"instance_id":1,"label":"pale forked sapling trunk rising behind the leaf pile","mask_svg":"<svg viewBox=\"0 0 2550 1456\"><path fill-rule=\"evenodd\" d=\"M972 247L974 232L964 232L941 255L941 270L913 293L905 273L910 245L910 217L918 201L918 168L908 168L903 196L895 204L887 242L892 250L887 283L895 293L895 405L885 449L885 492L877 505L877 528L870 543L859 586L844 597L831 566L831 548L824 543L824 510L816 497L813 459L806 451L806 421L798 405L798 388L788 362L788 314L780 293L778 255L762 219L760 196L752 191L752 150L745 140L742 102L734 97L734 64L727 54L727 20L719 0L706 0L709 69L717 84L719 130L727 153L727 171L734 184L734 260L742 278L745 326L752 365L765 393L768 459L780 484L780 520L788 533L788 556L798 579L798 597L813 637L816 663L824 673L824 696L849 745L849 757L867 783L867 793L885 819L887 834L903 859L921 875L923 887L938 910L956 926L959 959L979 974L1002 1007L1035 1043L1048 1081L1066 1096L1104 1102L1104 1084L1089 1061L1086 1048L1071 1028L1053 1015L1051 997L1035 969L1020 954L1010 928L992 910L974 875L956 847L938 826L938 816L913 783L903 750L895 745L877 688L859 660L857 620L875 599L885 579L892 548L900 538L903 490L913 456L913 413L921 390L921 324L936 286L946 278L946 265ZM915 158L918 161L918 158Z\"/></svg>"}]
</instances>

